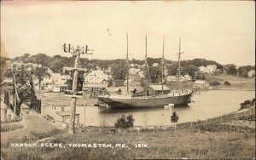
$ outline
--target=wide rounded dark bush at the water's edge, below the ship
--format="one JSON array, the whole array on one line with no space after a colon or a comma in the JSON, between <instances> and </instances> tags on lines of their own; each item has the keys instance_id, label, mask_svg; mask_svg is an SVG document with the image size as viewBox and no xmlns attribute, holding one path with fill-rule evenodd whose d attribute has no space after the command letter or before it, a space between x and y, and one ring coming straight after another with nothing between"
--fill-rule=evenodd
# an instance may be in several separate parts
<instances>
[{"instance_id":1,"label":"wide rounded dark bush at the water's edge, below the ship","mask_svg":"<svg viewBox=\"0 0 256 160\"><path fill-rule=\"evenodd\" d=\"M127 117L125 117L125 114L123 114L122 117L119 117L116 123L114 123L114 127L126 129L126 128L133 127L133 123L134 123L134 118L132 117L132 115L128 115Z\"/></svg>"}]
</instances>

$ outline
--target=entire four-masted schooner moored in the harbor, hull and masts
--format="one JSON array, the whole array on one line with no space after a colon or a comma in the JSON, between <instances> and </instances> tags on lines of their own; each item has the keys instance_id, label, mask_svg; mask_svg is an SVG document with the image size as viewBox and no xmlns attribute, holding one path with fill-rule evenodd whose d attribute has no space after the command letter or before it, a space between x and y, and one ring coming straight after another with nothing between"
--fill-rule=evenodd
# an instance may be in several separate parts
<instances>
[{"instance_id":1,"label":"entire four-masted schooner moored in the harbor, hull and masts","mask_svg":"<svg viewBox=\"0 0 256 160\"><path fill-rule=\"evenodd\" d=\"M147 36L145 38L146 42L146 53L145 53L145 67L146 67L146 85L144 87L143 93L133 93L129 94L129 71L127 71L127 93L128 94L111 94L111 95L100 95L98 100L108 104L110 108L148 108L148 107L163 107L169 104L174 106L187 105L190 102L190 98L193 94L192 89L183 91L180 90L177 93L171 93L171 90L163 85L163 74L164 74L164 49L165 49L165 39L163 42L163 55L162 55L162 79L161 85L149 85L148 84L148 63L147 63ZM179 41L180 46L180 41ZM179 48L179 75L180 75L180 48ZM128 60L128 34L127 34L127 53L126 62L129 65ZM129 66L127 66L129 68ZM129 70L129 69L128 69ZM161 93L156 94L154 89L161 86ZM167 92L164 92L166 91Z\"/></svg>"}]
</instances>

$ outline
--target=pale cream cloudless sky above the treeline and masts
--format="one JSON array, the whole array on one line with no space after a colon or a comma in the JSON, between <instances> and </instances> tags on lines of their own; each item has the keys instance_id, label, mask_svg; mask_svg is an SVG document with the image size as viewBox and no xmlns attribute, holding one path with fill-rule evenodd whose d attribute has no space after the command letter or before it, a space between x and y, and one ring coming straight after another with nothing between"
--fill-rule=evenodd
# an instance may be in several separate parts
<instances>
[{"instance_id":1,"label":"pale cream cloudless sky above the treeline and masts","mask_svg":"<svg viewBox=\"0 0 256 160\"><path fill-rule=\"evenodd\" d=\"M10 58L23 54L71 56L63 43L88 45L89 59L148 57L203 58L237 66L255 65L255 2L31 2L1 1L1 50ZM4 48L3 48L4 47ZM1 51L2 55L3 52Z\"/></svg>"}]
</instances>

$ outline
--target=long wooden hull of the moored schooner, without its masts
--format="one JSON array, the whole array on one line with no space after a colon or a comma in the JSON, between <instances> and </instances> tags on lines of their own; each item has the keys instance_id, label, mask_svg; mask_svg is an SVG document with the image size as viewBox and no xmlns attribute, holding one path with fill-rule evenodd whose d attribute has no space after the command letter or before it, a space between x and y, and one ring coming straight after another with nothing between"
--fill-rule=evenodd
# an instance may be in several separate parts
<instances>
[{"instance_id":1,"label":"long wooden hull of the moored schooner, without its masts","mask_svg":"<svg viewBox=\"0 0 256 160\"><path fill-rule=\"evenodd\" d=\"M160 95L160 96L143 96L143 97L122 97L122 96L102 96L98 99L108 104L110 108L149 108L163 107L168 104L174 106L188 105L191 94L183 95Z\"/></svg>"}]
</instances>

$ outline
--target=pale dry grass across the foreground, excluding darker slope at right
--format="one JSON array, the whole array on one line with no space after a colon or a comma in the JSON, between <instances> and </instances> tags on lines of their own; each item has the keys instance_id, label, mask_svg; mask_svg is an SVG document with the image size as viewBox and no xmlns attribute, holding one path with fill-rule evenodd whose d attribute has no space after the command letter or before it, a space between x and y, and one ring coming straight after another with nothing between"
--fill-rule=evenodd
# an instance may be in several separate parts
<instances>
[{"instance_id":1,"label":"pale dry grass across the foreground, excluding darker slope at right","mask_svg":"<svg viewBox=\"0 0 256 160\"><path fill-rule=\"evenodd\" d=\"M48 148L48 147L2 147L4 159L253 159L255 158L255 133L238 132L202 132L198 129L177 128L161 131L145 130L120 134L103 133L92 129L85 133L68 135L64 133L49 134L54 136L54 143L62 144L119 144L128 148ZM33 135L31 135L33 136ZM38 136L43 138L44 136ZM35 140L35 139L33 139ZM26 140L25 140L26 141ZM31 141L31 140L30 140ZM148 144L149 148L136 148L135 144Z\"/></svg>"}]
</instances>

